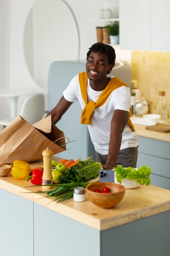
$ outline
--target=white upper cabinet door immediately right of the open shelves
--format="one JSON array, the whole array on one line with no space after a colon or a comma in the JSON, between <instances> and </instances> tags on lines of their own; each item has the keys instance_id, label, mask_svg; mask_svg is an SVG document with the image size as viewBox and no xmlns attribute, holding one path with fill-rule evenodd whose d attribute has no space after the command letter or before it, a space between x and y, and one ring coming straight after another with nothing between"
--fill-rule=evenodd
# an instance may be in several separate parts
<instances>
[{"instance_id":1,"label":"white upper cabinet door immediately right of the open shelves","mask_svg":"<svg viewBox=\"0 0 170 256\"><path fill-rule=\"evenodd\" d=\"M120 48L150 50L150 1L119 0Z\"/></svg>"}]
</instances>

